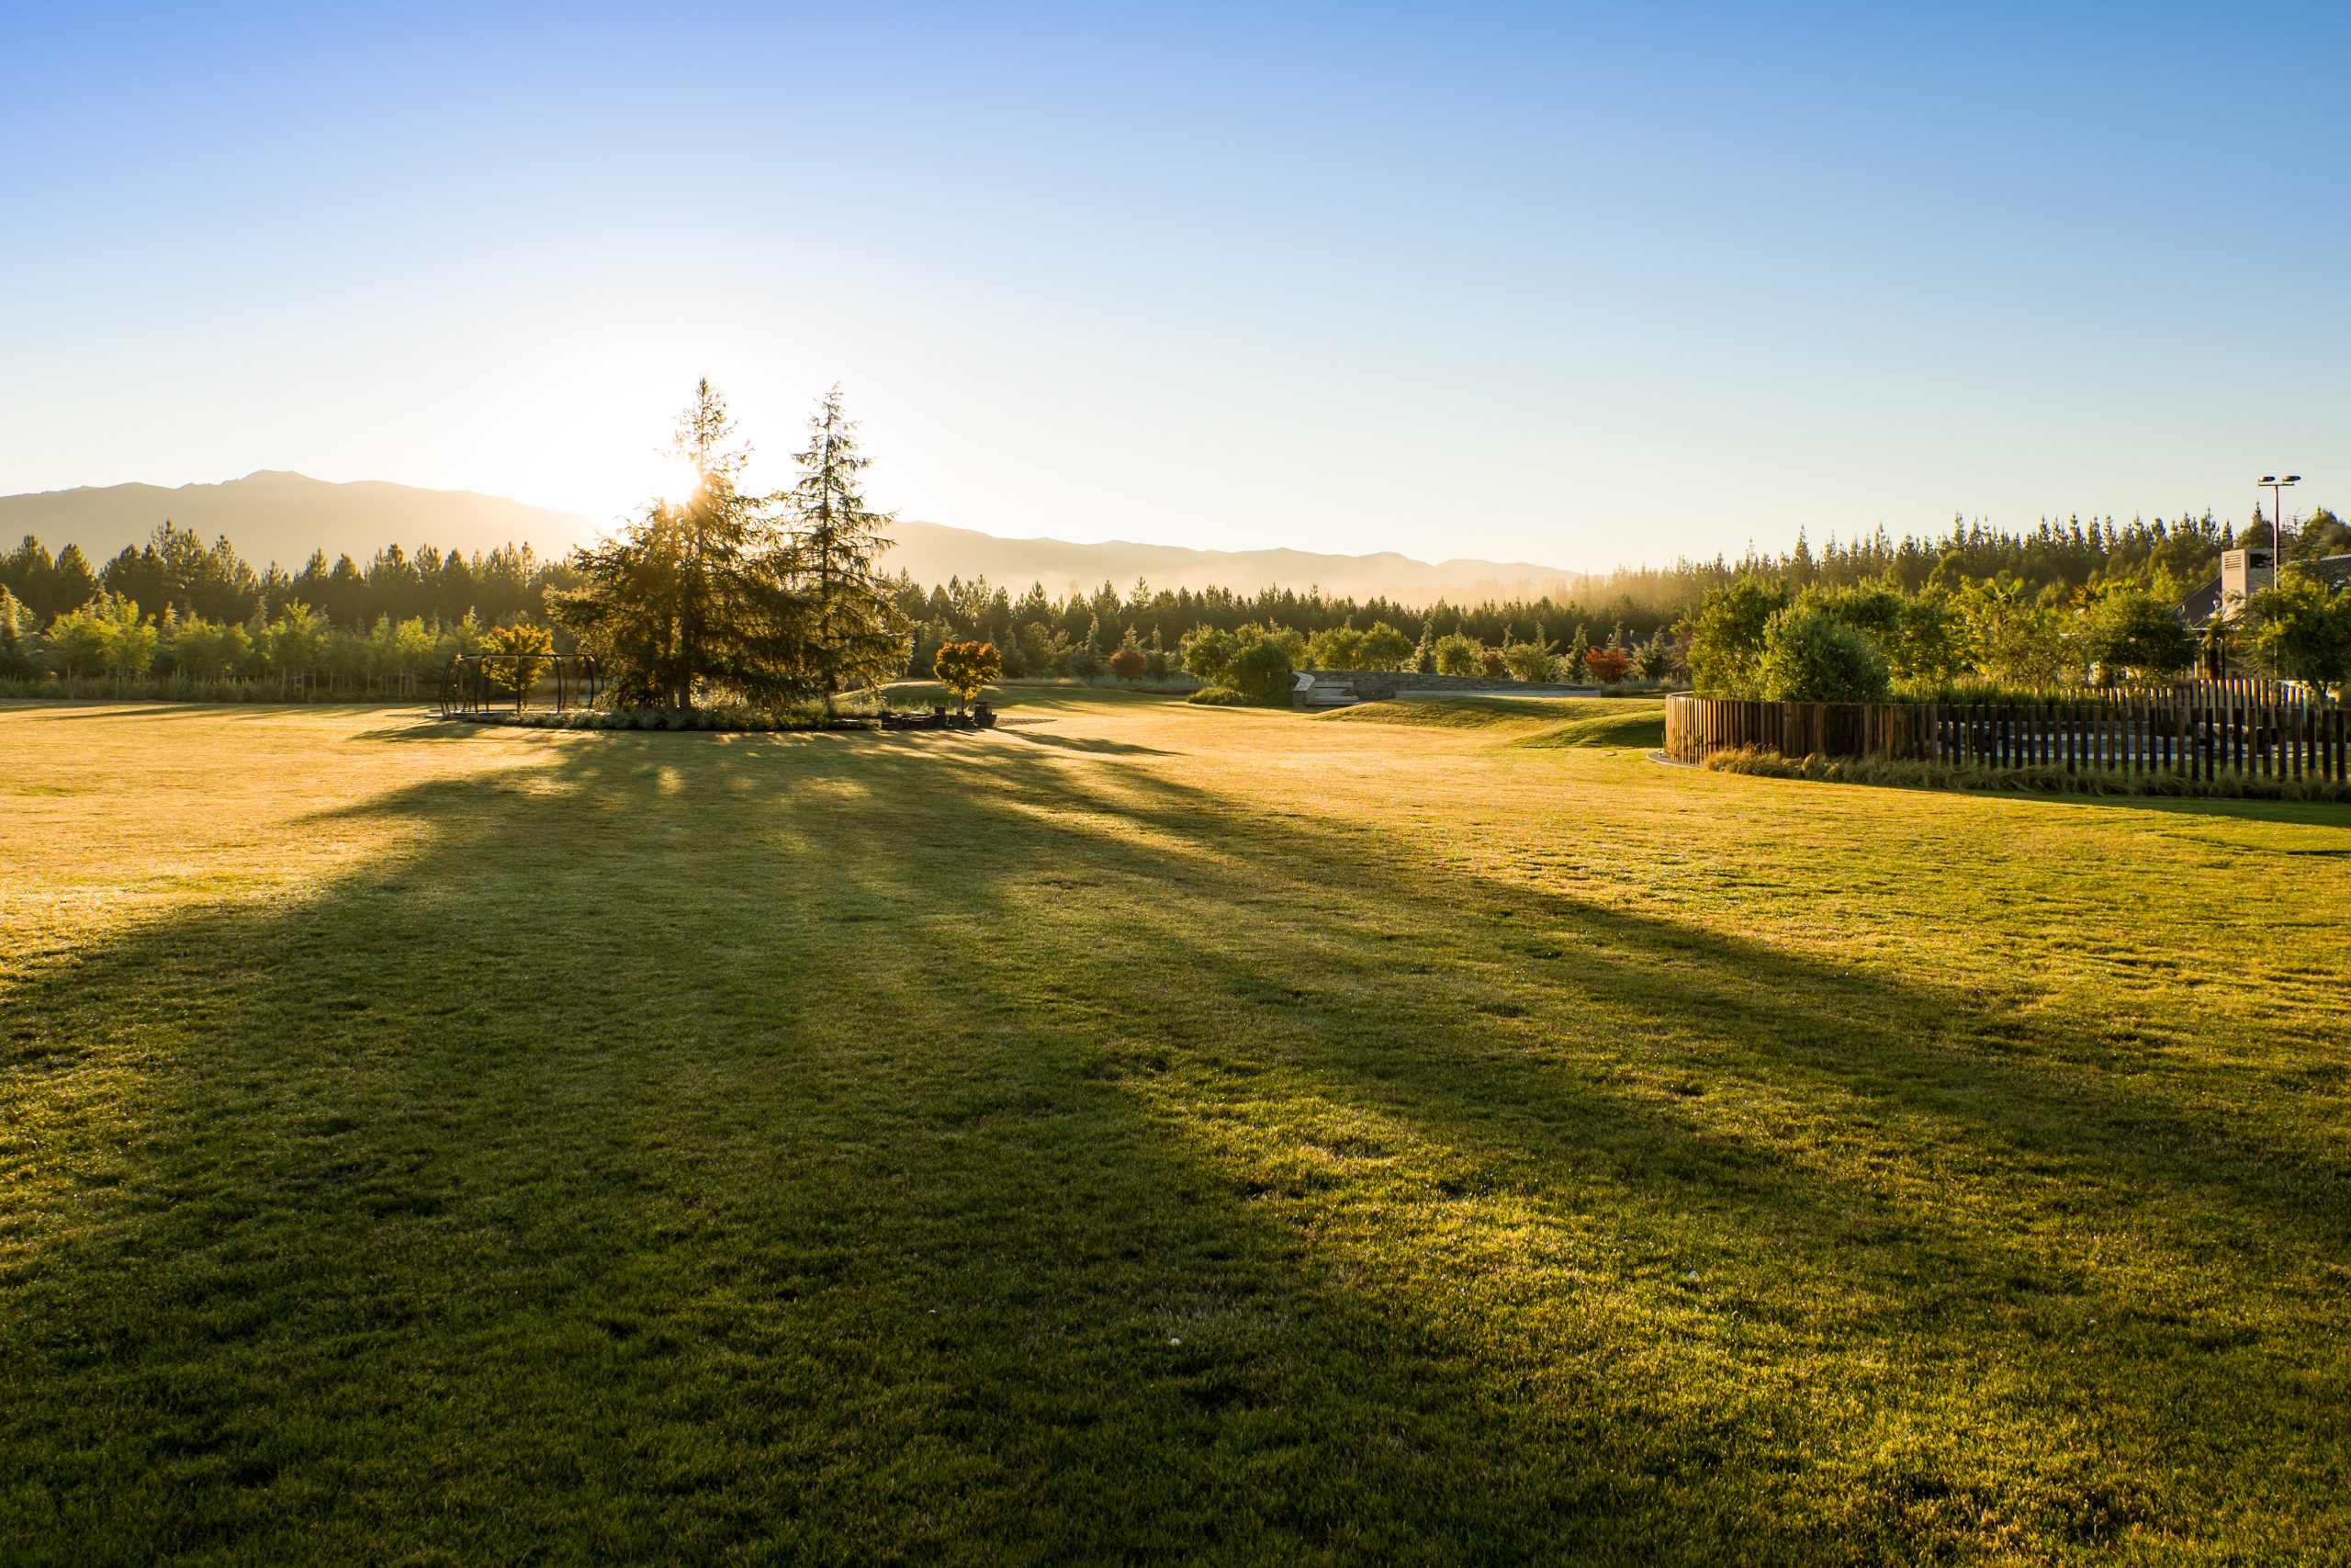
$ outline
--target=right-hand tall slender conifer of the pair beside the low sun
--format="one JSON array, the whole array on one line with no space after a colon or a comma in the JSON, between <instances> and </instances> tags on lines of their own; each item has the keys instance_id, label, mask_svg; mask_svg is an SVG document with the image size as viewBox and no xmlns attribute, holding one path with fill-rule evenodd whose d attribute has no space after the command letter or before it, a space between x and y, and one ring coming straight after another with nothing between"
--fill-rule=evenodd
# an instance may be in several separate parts
<instances>
[{"instance_id":1,"label":"right-hand tall slender conifer of the pair beside the low sun","mask_svg":"<svg viewBox=\"0 0 2351 1568\"><path fill-rule=\"evenodd\" d=\"M849 689L896 675L907 656L907 625L882 576L889 512L865 505L860 475L872 458L858 451L856 423L842 414L842 388L809 418L809 447L795 458L799 482L792 508L795 581L804 597L804 665L825 708Z\"/></svg>"}]
</instances>

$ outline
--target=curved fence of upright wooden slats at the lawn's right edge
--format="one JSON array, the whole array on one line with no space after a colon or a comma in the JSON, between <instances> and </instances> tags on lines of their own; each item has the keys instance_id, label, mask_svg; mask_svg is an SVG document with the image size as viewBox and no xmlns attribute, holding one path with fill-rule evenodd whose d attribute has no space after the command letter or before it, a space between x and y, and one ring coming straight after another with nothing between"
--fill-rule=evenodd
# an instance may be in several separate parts
<instances>
[{"instance_id":1,"label":"curved fence of upright wooden slats at the lawn's right edge","mask_svg":"<svg viewBox=\"0 0 2351 1568\"><path fill-rule=\"evenodd\" d=\"M1987 703L1665 701L1665 752L1902 757L1982 769L2344 783L2344 705L2295 682L2114 686Z\"/></svg>"}]
</instances>

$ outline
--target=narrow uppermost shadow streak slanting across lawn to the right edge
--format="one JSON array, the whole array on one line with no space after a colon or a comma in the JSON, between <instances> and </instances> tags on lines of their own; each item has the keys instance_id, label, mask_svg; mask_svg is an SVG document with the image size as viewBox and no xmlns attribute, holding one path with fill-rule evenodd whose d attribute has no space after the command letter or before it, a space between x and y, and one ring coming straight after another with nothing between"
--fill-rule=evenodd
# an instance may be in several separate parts
<instances>
[{"instance_id":1,"label":"narrow uppermost shadow streak slanting across lawn to the right edge","mask_svg":"<svg viewBox=\"0 0 2351 1568\"><path fill-rule=\"evenodd\" d=\"M1968 1138L1996 1135L2003 1154L2111 1168L2130 1185L2203 1194L2241 1222L2290 1220L2320 1246L2351 1246L2351 1159L2339 1140L2250 1128L2241 1107L2196 1072L2165 1072L2154 1058L2118 1060L2090 1039L2095 1025L2111 1023L2106 1016L2027 1011L1963 983L1820 961L1540 886L1399 860L1387 844L1298 816L1267 825L1244 811L1211 811L1150 778L1138 778L1117 809L1168 832L1215 823L1230 853L1286 875L1295 898L1328 886L1333 865L1392 907L1427 903L1441 886L1455 910L1512 933L1502 973L1493 950L1448 943L1455 971L1469 976L1453 987L1453 1006L1474 1006L1474 997L1491 999L1500 987L1521 1001L1568 992L1632 1018L1735 1032L1749 1072L1815 1072L1937 1126L1965 1124ZM1361 945L1342 931L1293 929L1288 957L1300 952L1347 961ZM2339 1051L2351 1034L2309 1044ZM2081 1072L2085 1065L2128 1070Z\"/></svg>"}]
</instances>

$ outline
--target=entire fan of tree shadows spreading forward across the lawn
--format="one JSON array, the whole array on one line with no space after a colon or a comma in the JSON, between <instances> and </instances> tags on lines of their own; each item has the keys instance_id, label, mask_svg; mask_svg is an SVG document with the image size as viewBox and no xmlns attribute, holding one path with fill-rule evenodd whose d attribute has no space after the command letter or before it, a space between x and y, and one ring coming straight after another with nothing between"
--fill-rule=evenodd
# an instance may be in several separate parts
<instances>
[{"instance_id":1,"label":"entire fan of tree shadows spreading forward across the lawn","mask_svg":"<svg viewBox=\"0 0 2351 1568\"><path fill-rule=\"evenodd\" d=\"M2193 1535L2149 1441L2233 1443L2205 1493L2320 1441L2191 1302L2064 1340L2085 1229L2339 1246L2283 1131L2212 1154L1982 997L903 741L550 738L12 994L5 1537L1843 1561Z\"/></svg>"}]
</instances>

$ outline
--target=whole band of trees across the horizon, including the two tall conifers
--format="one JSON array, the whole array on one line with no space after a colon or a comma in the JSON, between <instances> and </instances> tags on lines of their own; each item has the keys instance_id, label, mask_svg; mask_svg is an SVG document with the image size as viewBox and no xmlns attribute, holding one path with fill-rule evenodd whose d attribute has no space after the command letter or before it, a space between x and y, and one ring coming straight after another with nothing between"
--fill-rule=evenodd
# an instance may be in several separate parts
<instances>
[{"instance_id":1,"label":"whole band of trees across the horizon, including the two tall conifers","mask_svg":"<svg viewBox=\"0 0 2351 1568\"><path fill-rule=\"evenodd\" d=\"M2123 607L2154 628L2149 607L2177 604L2208 583L2219 552L2238 543L2210 512L2125 524L2043 520L2027 531L1954 520L1933 536L1895 541L1881 529L1820 550L1799 536L1780 555L1620 569L1582 578L1573 592L1512 602L1401 604L1314 588L1171 590L1143 581L1124 592L1100 583L1053 595L1044 583L1016 592L985 578L922 585L884 574L889 517L868 510L858 491L865 458L837 395L797 454L799 480L773 496L741 491L745 449L708 383L677 447L694 463L696 494L654 503L616 538L564 559L541 559L529 545L473 555L386 545L367 562L313 552L289 574L252 567L228 538L205 545L165 522L146 545L92 569L73 545L52 557L26 538L0 555L0 675L299 677L360 691L414 684L451 654L505 646L501 637L513 635L522 639L515 646L543 639L555 651L595 651L621 672L625 701L658 705L691 703L698 689L830 701L877 679L926 677L943 646L962 644L992 646L1013 679L1192 675L1223 686L1239 644L1272 642L1293 668L1589 682L1690 672L1751 686L1763 621L1801 599L1871 642L1890 689L1961 677L2031 684L2139 668L2116 665L2116 649L2097 642L2104 632L2095 628L2125 618ZM2245 541L2269 543L2259 512ZM2351 552L2351 527L2318 510L2285 531L2283 581L2299 581L2295 564L2337 552ZM1726 597L1740 585L1777 599L1756 618L1754 592ZM1902 614L1914 625L1937 621L1944 630L1904 642L1867 621L1886 618L1888 595L1911 607ZM1742 607L1740 635L1751 646L1730 663L1716 658L1716 675L1704 675L1709 654L1693 661L1693 642L1709 635L1709 607L1730 604ZM1860 604L1876 609L1864 616ZM2259 625L2273 630L2250 637L2243 658L2325 663L2311 651L2325 637L2276 630L2285 625L2276 614ZM1944 654L1928 658L1928 642ZM1827 644L1815 635L1808 646Z\"/></svg>"}]
</instances>

